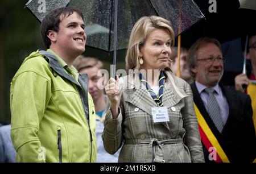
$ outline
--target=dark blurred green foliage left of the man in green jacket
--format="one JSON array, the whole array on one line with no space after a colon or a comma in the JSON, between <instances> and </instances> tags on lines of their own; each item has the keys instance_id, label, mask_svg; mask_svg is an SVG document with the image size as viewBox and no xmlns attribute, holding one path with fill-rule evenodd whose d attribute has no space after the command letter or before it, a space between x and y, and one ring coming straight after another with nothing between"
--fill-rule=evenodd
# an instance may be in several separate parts
<instances>
[{"instance_id":1,"label":"dark blurred green foliage left of the man in green jacket","mask_svg":"<svg viewBox=\"0 0 256 174\"><path fill-rule=\"evenodd\" d=\"M0 123L10 123L10 82L30 52L43 47L39 22L24 9L27 0L0 2ZM24 86L25 88L26 86Z\"/></svg>"}]
</instances>

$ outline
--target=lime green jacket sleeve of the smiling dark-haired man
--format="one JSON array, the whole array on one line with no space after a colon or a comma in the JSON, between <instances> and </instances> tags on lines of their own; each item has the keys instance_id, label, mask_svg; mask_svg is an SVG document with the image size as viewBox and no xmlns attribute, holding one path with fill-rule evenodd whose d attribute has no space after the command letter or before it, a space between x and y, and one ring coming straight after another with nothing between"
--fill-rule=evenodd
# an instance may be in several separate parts
<instances>
[{"instance_id":1,"label":"lime green jacket sleeve of the smiling dark-haired man","mask_svg":"<svg viewBox=\"0 0 256 174\"><path fill-rule=\"evenodd\" d=\"M37 133L50 97L51 81L38 73L23 72L11 82L11 139L17 162L44 162Z\"/></svg>"}]
</instances>

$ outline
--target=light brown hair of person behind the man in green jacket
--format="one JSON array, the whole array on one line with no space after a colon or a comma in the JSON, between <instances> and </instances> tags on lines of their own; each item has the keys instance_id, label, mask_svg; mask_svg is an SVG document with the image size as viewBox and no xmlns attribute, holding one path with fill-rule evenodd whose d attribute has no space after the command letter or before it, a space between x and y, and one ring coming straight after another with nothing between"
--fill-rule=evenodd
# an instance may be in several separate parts
<instances>
[{"instance_id":1,"label":"light brown hair of person behind the man in green jacket","mask_svg":"<svg viewBox=\"0 0 256 174\"><path fill-rule=\"evenodd\" d=\"M73 66L80 72L84 68L97 67L98 69L102 69L103 63L95 57L85 57L84 55L80 55L73 62Z\"/></svg>"}]
</instances>

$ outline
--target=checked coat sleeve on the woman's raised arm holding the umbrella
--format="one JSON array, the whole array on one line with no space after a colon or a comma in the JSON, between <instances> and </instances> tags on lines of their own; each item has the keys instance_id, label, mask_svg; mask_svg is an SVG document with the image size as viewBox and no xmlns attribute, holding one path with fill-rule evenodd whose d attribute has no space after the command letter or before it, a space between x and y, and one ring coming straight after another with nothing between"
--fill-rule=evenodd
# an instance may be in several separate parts
<instances>
[{"instance_id":1,"label":"checked coat sleeve on the woman's raised arm holding the umbrella","mask_svg":"<svg viewBox=\"0 0 256 174\"><path fill-rule=\"evenodd\" d=\"M109 154L115 154L118 149L122 146L123 134L122 134L122 122L125 119L125 112L123 109L123 98L121 96L121 101L118 109L117 119L113 119L112 113L110 111L110 103L108 106L108 111L106 113L104 122L104 131L102 132L102 140L104 143L104 148Z\"/></svg>"}]
</instances>

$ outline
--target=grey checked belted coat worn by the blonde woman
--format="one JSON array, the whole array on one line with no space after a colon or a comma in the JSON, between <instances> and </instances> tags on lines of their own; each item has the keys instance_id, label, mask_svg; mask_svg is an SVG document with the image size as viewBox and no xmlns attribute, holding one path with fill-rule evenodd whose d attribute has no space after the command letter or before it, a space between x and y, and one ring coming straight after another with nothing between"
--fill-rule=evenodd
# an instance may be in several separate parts
<instances>
[{"instance_id":1,"label":"grey checked belted coat worn by the blonde woman","mask_svg":"<svg viewBox=\"0 0 256 174\"><path fill-rule=\"evenodd\" d=\"M118 162L204 162L191 88L171 71L164 73L162 101L170 122L162 123L153 122L151 107L157 105L138 74L123 77L119 115L113 119L107 111L102 133L110 154L122 146Z\"/></svg>"}]
</instances>

